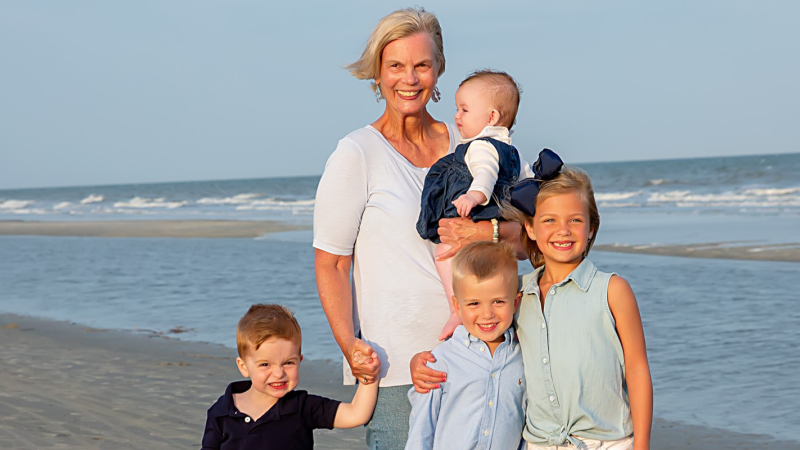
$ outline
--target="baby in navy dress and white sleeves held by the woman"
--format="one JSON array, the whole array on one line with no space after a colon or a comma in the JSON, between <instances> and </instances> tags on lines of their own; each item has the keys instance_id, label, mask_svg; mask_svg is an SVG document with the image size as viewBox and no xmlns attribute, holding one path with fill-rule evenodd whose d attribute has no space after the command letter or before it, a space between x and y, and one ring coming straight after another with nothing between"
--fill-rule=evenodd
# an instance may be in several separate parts
<instances>
[{"instance_id":1,"label":"baby in navy dress and white sleeves held by the woman","mask_svg":"<svg viewBox=\"0 0 800 450\"><path fill-rule=\"evenodd\" d=\"M439 244L439 219L470 217L491 220L495 241L499 235L499 205L508 199L517 180L533 176L528 164L511 145L511 132L519 108L519 86L505 72L479 70L456 91L456 126L461 145L437 161L425 177L417 232ZM436 248L436 269L450 305L450 319L439 335L444 340L461 324L450 301L453 298L452 259L440 260L450 246Z\"/></svg>"}]
</instances>

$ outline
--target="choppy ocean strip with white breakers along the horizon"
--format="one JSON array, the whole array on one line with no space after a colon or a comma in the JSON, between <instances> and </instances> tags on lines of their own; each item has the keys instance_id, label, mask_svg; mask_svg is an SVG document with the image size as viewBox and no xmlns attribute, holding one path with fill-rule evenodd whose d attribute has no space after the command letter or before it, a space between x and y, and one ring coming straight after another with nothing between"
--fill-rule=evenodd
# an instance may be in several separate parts
<instances>
[{"instance_id":1,"label":"choppy ocean strip with white breakers along the horizon","mask_svg":"<svg viewBox=\"0 0 800 450\"><path fill-rule=\"evenodd\" d=\"M532 160L533 158L529 158ZM579 164L604 211L800 215L800 153ZM0 190L0 220L310 223L319 177Z\"/></svg>"}]
</instances>

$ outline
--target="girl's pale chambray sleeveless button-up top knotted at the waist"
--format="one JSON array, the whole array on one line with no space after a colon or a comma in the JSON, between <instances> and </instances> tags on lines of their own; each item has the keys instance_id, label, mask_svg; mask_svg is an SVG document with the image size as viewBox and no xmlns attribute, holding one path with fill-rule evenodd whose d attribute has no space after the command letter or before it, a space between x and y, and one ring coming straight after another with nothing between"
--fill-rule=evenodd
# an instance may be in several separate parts
<instances>
[{"instance_id":1,"label":"girl's pale chambray sleeveless button-up top knotted at the waist","mask_svg":"<svg viewBox=\"0 0 800 450\"><path fill-rule=\"evenodd\" d=\"M633 433L625 361L608 307L611 273L588 259L547 294L542 311L540 267L522 277L517 315L527 381L522 436L537 445L581 448L573 436L616 440Z\"/></svg>"}]
</instances>

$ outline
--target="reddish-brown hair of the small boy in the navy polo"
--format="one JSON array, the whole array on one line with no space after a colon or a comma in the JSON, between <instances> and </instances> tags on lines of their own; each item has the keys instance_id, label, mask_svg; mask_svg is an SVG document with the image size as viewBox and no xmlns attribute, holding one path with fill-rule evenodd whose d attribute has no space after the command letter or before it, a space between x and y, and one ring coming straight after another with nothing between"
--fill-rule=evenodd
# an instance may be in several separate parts
<instances>
[{"instance_id":1,"label":"reddish-brown hair of the small boy in the navy polo","mask_svg":"<svg viewBox=\"0 0 800 450\"><path fill-rule=\"evenodd\" d=\"M303 341L300 325L285 306L256 304L239 319L236 327L236 347L239 357L244 358L252 348L258 350L272 338L285 339L298 346Z\"/></svg>"}]
</instances>

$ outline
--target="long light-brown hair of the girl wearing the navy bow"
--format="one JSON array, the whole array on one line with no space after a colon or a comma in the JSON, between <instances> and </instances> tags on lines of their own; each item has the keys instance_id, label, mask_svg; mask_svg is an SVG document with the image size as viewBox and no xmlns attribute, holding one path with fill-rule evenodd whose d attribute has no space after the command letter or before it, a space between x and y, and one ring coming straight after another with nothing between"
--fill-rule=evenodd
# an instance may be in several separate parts
<instances>
[{"instance_id":1,"label":"long light-brown hair of the girl wearing the navy bow","mask_svg":"<svg viewBox=\"0 0 800 450\"><path fill-rule=\"evenodd\" d=\"M592 189L592 181L589 175L577 167L564 166L561 172L552 180L542 181L539 186L539 194L536 196L536 205L539 205L543 200L550 197L569 194L577 192L589 210L589 229L592 234L589 242L586 244L585 254L589 254L592 249L595 239L597 239L597 230L600 228L600 213L597 210L597 202L594 199L594 190ZM519 222L522 225L520 231L520 242L522 242L525 253L528 255L533 267L541 267L544 265L544 256L539 251L536 241L528 236L525 229L525 224L533 225L533 217L523 213L522 211L514 208L509 203L504 203L501 207L501 214L509 221Z\"/></svg>"}]
</instances>

